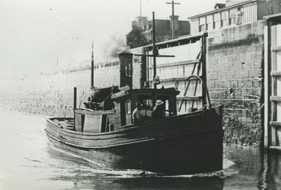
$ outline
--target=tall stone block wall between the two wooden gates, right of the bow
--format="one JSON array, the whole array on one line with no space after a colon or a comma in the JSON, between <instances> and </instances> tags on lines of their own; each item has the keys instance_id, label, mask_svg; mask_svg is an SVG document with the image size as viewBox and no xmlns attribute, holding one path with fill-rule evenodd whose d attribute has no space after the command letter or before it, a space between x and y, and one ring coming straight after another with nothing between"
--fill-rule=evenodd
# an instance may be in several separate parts
<instances>
[{"instance_id":1,"label":"tall stone block wall between the two wooden gates, right of the bow","mask_svg":"<svg viewBox=\"0 0 281 190\"><path fill-rule=\"evenodd\" d=\"M209 32L211 101L224 106L225 141L259 144L262 135L264 21Z\"/></svg>"}]
</instances>

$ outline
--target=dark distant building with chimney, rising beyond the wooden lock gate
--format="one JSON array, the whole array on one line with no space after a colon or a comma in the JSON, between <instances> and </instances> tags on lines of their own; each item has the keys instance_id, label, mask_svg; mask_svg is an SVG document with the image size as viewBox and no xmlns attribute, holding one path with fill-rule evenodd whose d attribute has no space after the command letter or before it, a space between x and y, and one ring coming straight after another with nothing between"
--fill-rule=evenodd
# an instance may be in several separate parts
<instances>
[{"instance_id":1,"label":"dark distant building with chimney, rising beyond the wooden lock gate","mask_svg":"<svg viewBox=\"0 0 281 190\"><path fill-rule=\"evenodd\" d=\"M190 34L189 22L187 20L178 20L178 15L174 15L174 18L173 16L170 16L169 20L155 19L156 42L164 42L171 39L172 19L174 19L175 39ZM147 17L140 16L132 22L132 25L142 30L145 37L149 41L152 41L152 20L148 20Z\"/></svg>"}]
</instances>

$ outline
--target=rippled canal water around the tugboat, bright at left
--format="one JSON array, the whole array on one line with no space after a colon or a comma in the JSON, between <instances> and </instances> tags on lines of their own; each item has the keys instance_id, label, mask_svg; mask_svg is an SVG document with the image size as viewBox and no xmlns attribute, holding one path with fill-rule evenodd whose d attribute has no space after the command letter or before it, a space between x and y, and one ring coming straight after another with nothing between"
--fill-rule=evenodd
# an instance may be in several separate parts
<instances>
[{"instance_id":1,"label":"rippled canal water around the tugboat, bright at left","mask_svg":"<svg viewBox=\"0 0 281 190\"><path fill-rule=\"evenodd\" d=\"M224 147L224 170L161 176L105 170L48 144L46 117L0 110L0 189L281 189L281 155Z\"/></svg>"}]
</instances>

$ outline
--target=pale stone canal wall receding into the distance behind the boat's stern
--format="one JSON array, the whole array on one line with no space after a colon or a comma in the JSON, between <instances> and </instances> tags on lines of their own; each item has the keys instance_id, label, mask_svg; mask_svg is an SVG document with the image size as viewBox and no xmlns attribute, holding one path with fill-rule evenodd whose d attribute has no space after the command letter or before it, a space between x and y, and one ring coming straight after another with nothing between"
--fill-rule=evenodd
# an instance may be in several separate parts
<instances>
[{"instance_id":1,"label":"pale stone canal wall receding into the distance behind the boat's stern","mask_svg":"<svg viewBox=\"0 0 281 190\"><path fill-rule=\"evenodd\" d=\"M99 66L95 70L95 86L119 84L119 65ZM91 70L59 71L54 74L11 78L1 81L2 108L26 113L73 117L73 88L77 87L77 106L90 94Z\"/></svg>"}]
</instances>

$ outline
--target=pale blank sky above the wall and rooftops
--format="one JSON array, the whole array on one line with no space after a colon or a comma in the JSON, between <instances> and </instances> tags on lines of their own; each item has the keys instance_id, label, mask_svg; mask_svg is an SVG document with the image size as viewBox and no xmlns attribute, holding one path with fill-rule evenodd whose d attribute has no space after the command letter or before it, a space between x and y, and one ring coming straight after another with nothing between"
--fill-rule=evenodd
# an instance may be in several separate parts
<instances>
[{"instance_id":1,"label":"pale blank sky above the wall and rooftops","mask_svg":"<svg viewBox=\"0 0 281 190\"><path fill-rule=\"evenodd\" d=\"M141 4L140 4L141 2ZM140 14L169 19L164 0L0 0L0 79L44 72L103 54L112 37L125 39ZM175 15L187 20L214 9L223 0L177 0ZM15 74L14 74L15 73Z\"/></svg>"}]
</instances>

